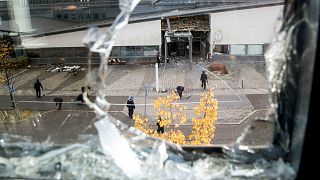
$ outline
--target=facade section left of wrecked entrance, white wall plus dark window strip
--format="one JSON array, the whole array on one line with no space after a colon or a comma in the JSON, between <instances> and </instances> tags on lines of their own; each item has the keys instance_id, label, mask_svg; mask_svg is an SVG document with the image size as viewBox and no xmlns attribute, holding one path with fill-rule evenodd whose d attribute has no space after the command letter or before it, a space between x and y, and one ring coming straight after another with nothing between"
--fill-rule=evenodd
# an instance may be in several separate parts
<instances>
[{"instance_id":1,"label":"facade section left of wrecked entrance, white wall plus dark window strip","mask_svg":"<svg viewBox=\"0 0 320 180\"><path fill-rule=\"evenodd\" d=\"M106 28L100 29L102 32ZM63 62L67 64L86 63L91 58L99 63L99 55L89 53L82 42L86 30L59 33L40 37L25 37L22 45L35 63ZM110 58L125 61L153 59L161 46L161 21L132 23L117 35Z\"/></svg>"}]
</instances>

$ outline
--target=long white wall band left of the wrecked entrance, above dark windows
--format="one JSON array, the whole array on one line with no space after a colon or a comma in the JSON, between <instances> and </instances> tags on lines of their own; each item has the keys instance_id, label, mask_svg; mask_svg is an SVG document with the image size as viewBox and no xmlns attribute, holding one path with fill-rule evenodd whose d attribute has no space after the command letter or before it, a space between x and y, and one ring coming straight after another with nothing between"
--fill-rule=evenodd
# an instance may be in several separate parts
<instances>
[{"instance_id":1,"label":"long white wall band left of the wrecked entrance, above dark windows","mask_svg":"<svg viewBox=\"0 0 320 180\"><path fill-rule=\"evenodd\" d=\"M106 28L101 29L105 32ZM38 38L23 37L26 48L84 47L86 31L76 31ZM115 46L161 45L161 20L128 24L116 37Z\"/></svg>"}]
</instances>

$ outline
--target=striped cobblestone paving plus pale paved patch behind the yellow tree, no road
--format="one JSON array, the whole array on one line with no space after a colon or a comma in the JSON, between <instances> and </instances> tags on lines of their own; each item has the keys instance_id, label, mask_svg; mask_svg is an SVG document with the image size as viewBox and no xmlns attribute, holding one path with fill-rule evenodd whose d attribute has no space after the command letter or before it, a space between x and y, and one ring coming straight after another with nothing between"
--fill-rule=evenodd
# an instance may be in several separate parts
<instances>
[{"instance_id":1,"label":"striped cobblestone paving plus pale paved patch behind the yellow tree, no road","mask_svg":"<svg viewBox=\"0 0 320 180\"><path fill-rule=\"evenodd\" d=\"M202 62L192 65L191 69L190 64L168 64L167 69L164 69L164 66L161 65L159 67L160 87L167 89L167 93L155 92L154 65L109 66L106 73L107 87L105 92L108 96L134 96L135 103L142 104L141 106L137 105L135 112L144 114L145 108L143 104L145 103L145 84L147 83L149 87L147 90L147 104L149 104L147 106L147 115L152 117L155 113L151 105L152 102L159 96L170 94L178 85L185 87L183 98L179 102L199 102L201 94L206 92L200 86L200 75L203 71L202 68L207 68L210 63ZM224 62L224 64L226 64L230 73L217 75L207 72L208 88L214 88L215 98L219 102L218 122L237 123L254 110L245 94L268 93L267 80L261 74L264 66L248 65L248 63L244 62ZM256 67L260 69L256 70ZM34 96L33 83L39 77L44 86L42 94L46 96L77 96L81 92L80 88L87 84L87 79L84 75L70 76L66 72L46 72L45 68L30 68L15 77L18 88L14 95ZM242 80L244 81L243 88ZM91 88L91 95L95 95L96 87L92 86ZM2 94L6 94L5 90L3 91ZM118 103L125 104L126 98ZM187 113L190 114L189 119L191 119L193 107L189 106ZM125 105L121 109L123 112L127 112Z\"/></svg>"}]
</instances>

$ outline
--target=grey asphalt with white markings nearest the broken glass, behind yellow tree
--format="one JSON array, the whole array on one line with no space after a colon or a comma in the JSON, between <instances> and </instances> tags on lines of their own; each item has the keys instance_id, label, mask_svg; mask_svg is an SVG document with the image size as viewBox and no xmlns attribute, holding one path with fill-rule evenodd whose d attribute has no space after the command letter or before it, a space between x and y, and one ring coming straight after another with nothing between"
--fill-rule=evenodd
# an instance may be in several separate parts
<instances>
[{"instance_id":1,"label":"grey asphalt with white markings nearest the broken glass, behind yellow tree","mask_svg":"<svg viewBox=\"0 0 320 180\"><path fill-rule=\"evenodd\" d=\"M241 124L227 125L217 124L213 145L226 145L235 143L243 130L253 123L252 128L244 144L247 145L268 145L272 142L273 124L267 121L255 121L257 117L265 114L258 111L246 118ZM122 121L128 126L133 126L133 120L125 113L109 112L111 118ZM95 113L91 111L70 111L70 110L48 110L36 117L22 121L17 124L2 124L0 133L10 133L23 136L31 136L34 141L43 142L50 138L51 142L59 144L76 143L79 136L97 135L94 127ZM152 125L156 129L155 125ZM170 130L166 128L165 131ZM183 125L178 128L186 137L191 132L190 125Z\"/></svg>"}]
</instances>

